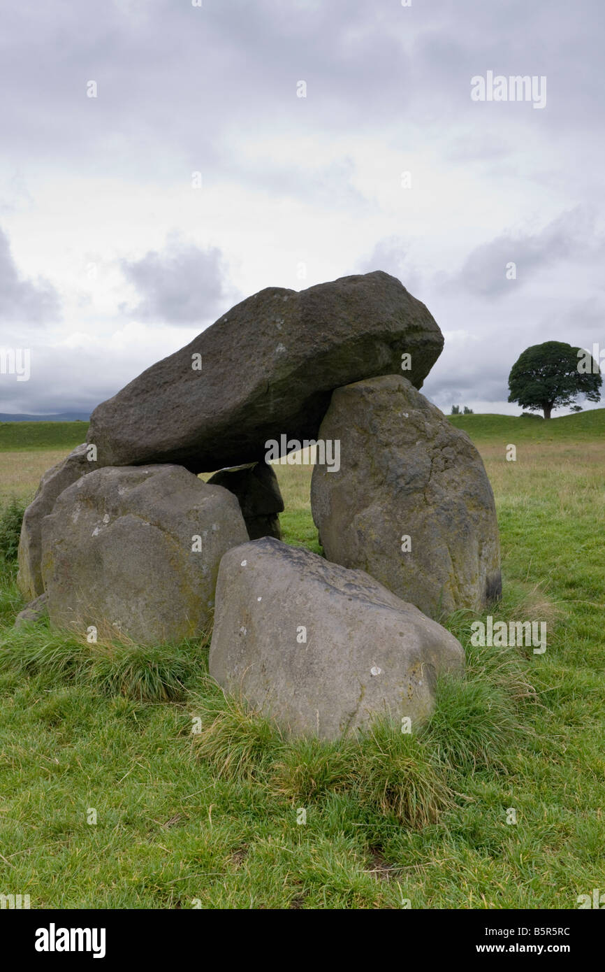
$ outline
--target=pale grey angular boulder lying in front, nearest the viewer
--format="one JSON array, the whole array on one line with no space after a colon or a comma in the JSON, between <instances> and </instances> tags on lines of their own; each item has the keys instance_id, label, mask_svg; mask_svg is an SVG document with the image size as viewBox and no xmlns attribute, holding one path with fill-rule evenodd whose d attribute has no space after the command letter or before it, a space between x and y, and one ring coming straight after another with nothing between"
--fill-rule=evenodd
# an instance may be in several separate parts
<instances>
[{"instance_id":1,"label":"pale grey angular boulder lying in front, nearest the viewer","mask_svg":"<svg viewBox=\"0 0 605 972\"><path fill-rule=\"evenodd\" d=\"M463 667L453 635L367 573L274 538L220 561L210 674L286 734L337 739L379 716L414 729L436 678Z\"/></svg>"}]
</instances>

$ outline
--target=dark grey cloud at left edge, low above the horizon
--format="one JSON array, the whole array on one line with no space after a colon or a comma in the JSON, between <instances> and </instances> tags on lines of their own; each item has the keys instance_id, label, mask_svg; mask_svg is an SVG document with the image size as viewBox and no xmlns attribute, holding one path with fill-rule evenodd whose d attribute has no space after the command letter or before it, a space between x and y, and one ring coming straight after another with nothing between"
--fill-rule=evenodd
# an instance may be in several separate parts
<instances>
[{"instance_id":1,"label":"dark grey cloud at left edge, low above the horizon","mask_svg":"<svg viewBox=\"0 0 605 972\"><path fill-rule=\"evenodd\" d=\"M20 276L8 237L0 229L0 320L46 324L56 321L59 313L59 297L47 280Z\"/></svg>"}]
</instances>

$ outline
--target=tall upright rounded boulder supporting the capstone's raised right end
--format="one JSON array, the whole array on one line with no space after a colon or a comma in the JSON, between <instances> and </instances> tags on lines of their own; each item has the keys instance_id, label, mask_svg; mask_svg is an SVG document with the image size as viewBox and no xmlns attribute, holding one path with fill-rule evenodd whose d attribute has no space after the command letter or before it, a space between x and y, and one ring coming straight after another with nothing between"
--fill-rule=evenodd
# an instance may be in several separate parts
<instances>
[{"instance_id":1,"label":"tall upright rounded boulder supporting the capstone's raised right end","mask_svg":"<svg viewBox=\"0 0 605 972\"><path fill-rule=\"evenodd\" d=\"M313 518L325 556L372 574L431 617L501 593L498 525L481 456L404 377L334 392L319 430L340 469L316 466Z\"/></svg>"}]
</instances>

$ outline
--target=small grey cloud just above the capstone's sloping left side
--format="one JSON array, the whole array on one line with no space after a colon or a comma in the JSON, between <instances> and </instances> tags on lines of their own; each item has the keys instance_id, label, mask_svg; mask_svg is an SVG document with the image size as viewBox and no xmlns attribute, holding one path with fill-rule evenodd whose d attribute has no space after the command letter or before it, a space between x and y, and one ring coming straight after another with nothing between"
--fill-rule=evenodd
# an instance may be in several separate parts
<instances>
[{"instance_id":1,"label":"small grey cloud just above the capstone's sloping left side","mask_svg":"<svg viewBox=\"0 0 605 972\"><path fill-rule=\"evenodd\" d=\"M150 250L141 260L121 260L121 267L141 295L129 309L140 321L209 324L235 302L217 247L201 250L173 235L161 253Z\"/></svg>"}]
</instances>

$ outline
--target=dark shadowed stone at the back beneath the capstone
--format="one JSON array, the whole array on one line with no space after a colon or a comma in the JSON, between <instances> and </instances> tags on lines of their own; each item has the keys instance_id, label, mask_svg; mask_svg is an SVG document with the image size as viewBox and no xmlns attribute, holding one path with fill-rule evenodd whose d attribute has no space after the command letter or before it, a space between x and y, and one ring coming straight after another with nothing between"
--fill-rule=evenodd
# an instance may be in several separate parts
<instances>
[{"instance_id":1,"label":"dark shadowed stone at the back beneath the capstone","mask_svg":"<svg viewBox=\"0 0 605 972\"><path fill-rule=\"evenodd\" d=\"M259 462L219 469L208 484L224 486L237 497L251 540L282 538L280 513L284 510L284 500L272 466Z\"/></svg>"}]
</instances>

